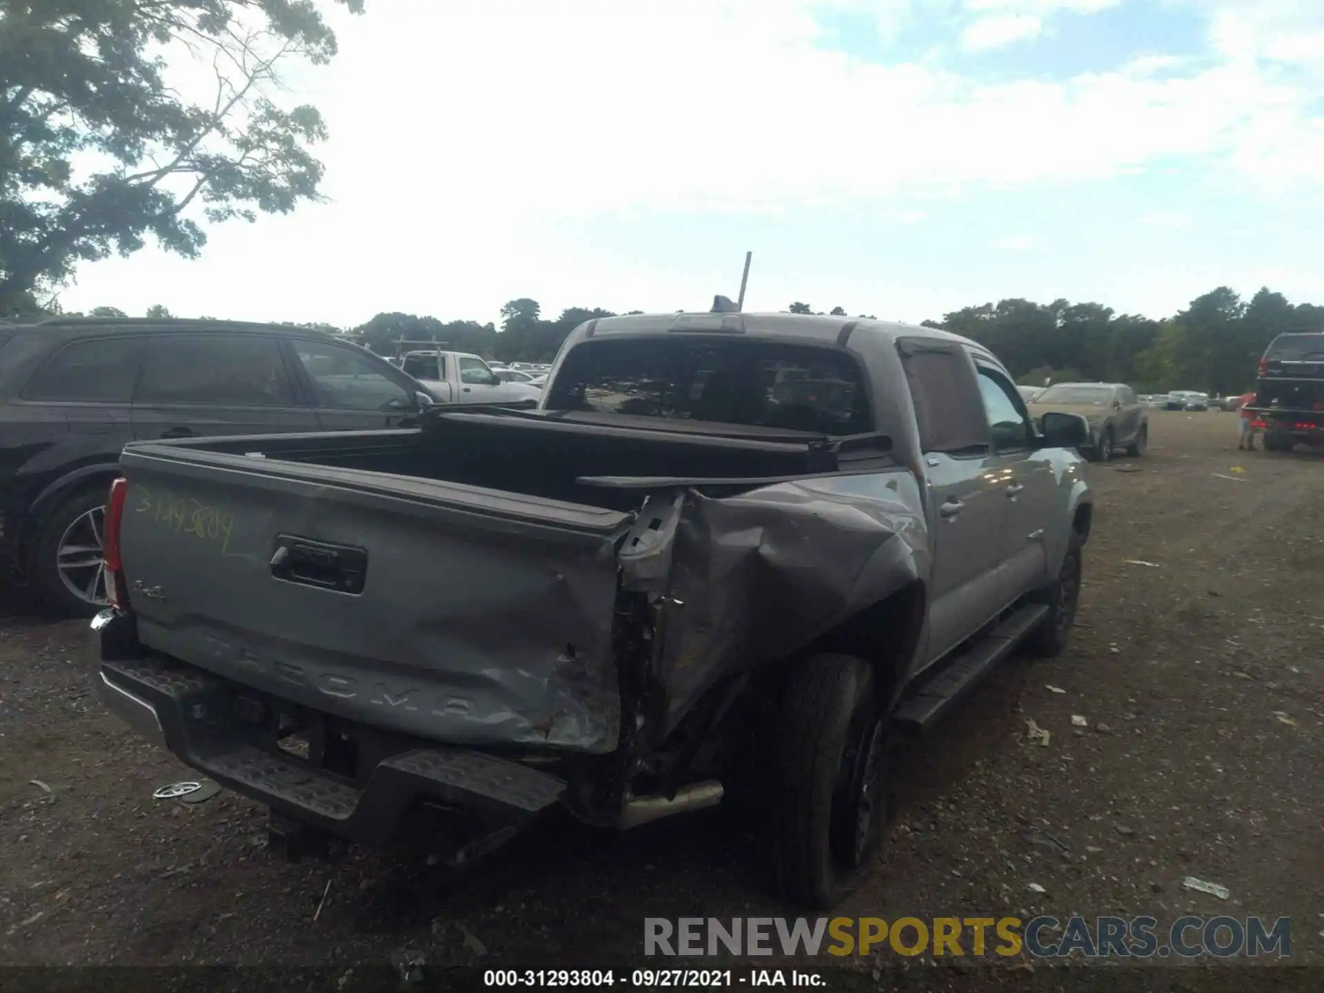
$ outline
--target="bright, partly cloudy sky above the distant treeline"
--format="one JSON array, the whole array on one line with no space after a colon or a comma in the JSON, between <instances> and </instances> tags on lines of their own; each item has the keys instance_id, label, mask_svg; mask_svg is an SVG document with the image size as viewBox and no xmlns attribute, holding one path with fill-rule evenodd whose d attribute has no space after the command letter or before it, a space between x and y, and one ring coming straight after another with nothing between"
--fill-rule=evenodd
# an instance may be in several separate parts
<instances>
[{"instance_id":1,"label":"bright, partly cloudy sky above the distant treeline","mask_svg":"<svg viewBox=\"0 0 1324 993\"><path fill-rule=\"evenodd\" d=\"M323 204L83 265L66 310L571 306L919 322L1025 297L1324 303L1320 0L367 0Z\"/></svg>"}]
</instances>

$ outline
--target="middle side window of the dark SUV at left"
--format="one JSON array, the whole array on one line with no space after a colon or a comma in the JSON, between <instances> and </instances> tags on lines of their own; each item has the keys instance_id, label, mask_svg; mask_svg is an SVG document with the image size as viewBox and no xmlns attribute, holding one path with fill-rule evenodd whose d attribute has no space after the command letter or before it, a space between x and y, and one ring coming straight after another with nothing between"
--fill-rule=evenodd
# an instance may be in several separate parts
<instances>
[{"instance_id":1,"label":"middle side window of the dark SUV at left","mask_svg":"<svg viewBox=\"0 0 1324 993\"><path fill-rule=\"evenodd\" d=\"M135 404L293 406L281 347L265 335L156 335L144 348Z\"/></svg>"}]
</instances>

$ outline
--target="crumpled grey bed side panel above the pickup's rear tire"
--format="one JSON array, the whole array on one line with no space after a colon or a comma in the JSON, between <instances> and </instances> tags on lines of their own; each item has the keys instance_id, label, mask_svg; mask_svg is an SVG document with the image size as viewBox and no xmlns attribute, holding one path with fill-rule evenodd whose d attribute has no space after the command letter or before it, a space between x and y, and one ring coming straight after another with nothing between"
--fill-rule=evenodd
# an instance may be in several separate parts
<instances>
[{"instance_id":1,"label":"crumpled grey bed side panel above the pickup's rear tire","mask_svg":"<svg viewBox=\"0 0 1324 993\"><path fill-rule=\"evenodd\" d=\"M928 575L923 500L906 470L723 499L690 491L665 518L675 498L650 498L653 516L663 516L661 540L643 555L621 553L628 585L657 583L658 564L669 565L666 588L654 587L671 598L657 671L667 698L662 733L718 681L785 658Z\"/></svg>"}]
</instances>

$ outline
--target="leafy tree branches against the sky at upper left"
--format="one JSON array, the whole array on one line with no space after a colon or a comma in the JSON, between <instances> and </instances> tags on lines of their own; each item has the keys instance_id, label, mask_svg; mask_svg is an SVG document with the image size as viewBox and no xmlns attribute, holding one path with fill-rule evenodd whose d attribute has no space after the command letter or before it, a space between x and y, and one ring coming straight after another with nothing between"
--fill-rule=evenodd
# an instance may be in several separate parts
<instances>
[{"instance_id":1,"label":"leafy tree branches against the sky at upper left","mask_svg":"<svg viewBox=\"0 0 1324 993\"><path fill-rule=\"evenodd\" d=\"M323 0L326 3L326 0ZM335 0L361 12L363 0ZM316 109L282 109L277 69L327 62L314 0L26 0L0 17L0 306L151 236L195 258L203 220L316 200ZM192 102L166 58L209 64ZM200 208L200 209L199 209Z\"/></svg>"}]
</instances>

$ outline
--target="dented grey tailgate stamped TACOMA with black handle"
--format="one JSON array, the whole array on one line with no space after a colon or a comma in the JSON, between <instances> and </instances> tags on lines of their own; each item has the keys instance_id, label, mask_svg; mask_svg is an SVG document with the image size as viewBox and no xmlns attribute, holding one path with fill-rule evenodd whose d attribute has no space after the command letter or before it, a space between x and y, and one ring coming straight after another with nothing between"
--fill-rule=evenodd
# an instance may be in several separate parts
<instances>
[{"instance_id":1,"label":"dented grey tailgate stamped TACOMA with black handle","mask_svg":"<svg viewBox=\"0 0 1324 993\"><path fill-rule=\"evenodd\" d=\"M441 741L616 747L628 515L167 445L122 465L147 647Z\"/></svg>"}]
</instances>

